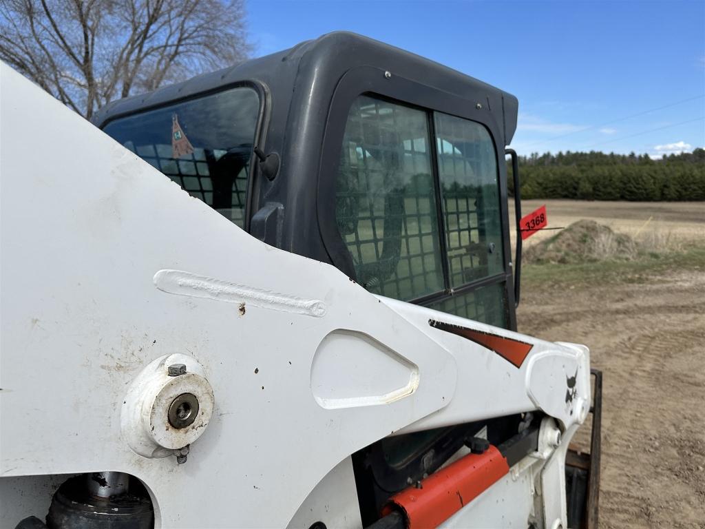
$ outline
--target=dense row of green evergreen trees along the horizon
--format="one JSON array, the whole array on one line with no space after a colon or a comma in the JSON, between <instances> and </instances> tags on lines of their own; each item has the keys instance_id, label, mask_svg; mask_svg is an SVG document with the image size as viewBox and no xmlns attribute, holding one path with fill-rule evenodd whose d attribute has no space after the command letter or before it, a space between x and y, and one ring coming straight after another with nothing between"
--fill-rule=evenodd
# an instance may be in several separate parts
<instances>
[{"instance_id":1,"label":"dense row of green evergreen trees along the horizon","mask_svg":"<svg viewBox=\"0 0 705 529\"><path fill-rule=\"evenodd\" d=\"M512 196L510 166L509 172ZM519 175L522 199L705 200L703 149L670 154L658 160L634 153L534 153L520 157Z\"/></svg>"}]
</instances>

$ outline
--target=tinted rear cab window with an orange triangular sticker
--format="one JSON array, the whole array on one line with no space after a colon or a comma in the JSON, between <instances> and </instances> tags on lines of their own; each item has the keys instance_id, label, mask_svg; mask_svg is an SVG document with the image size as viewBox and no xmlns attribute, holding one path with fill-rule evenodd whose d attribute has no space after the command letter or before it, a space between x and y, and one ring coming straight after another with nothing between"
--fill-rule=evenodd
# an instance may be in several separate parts
<instances>
[{"instance_id":1,"label":"tinted rear cab window with an orange triangular sticker","mask_svg":"<svg viewBox=\"0 0 705 529\"><path fill-rule=\"evenodd\" d=\"M244 227L259 97L237 87L111 121L105 132Z\"/></svg>"}]
</instances>

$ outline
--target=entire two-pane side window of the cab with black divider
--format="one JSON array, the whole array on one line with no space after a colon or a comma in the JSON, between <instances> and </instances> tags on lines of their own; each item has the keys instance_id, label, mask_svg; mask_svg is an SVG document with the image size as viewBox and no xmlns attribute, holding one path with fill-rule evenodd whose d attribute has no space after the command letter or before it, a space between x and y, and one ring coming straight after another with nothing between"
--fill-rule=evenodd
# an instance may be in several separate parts
<instances>
[{"instance_id":1,"label":"entire two-pane side window of the cab with black divider","mask_svg":"<svg viewBox=\"0 0 705 529\"><path fill-rule=\"evenodd\" d=\"M482 124L362 95L336 186L338 231L364 288L505 326L498 167Z\"/></svg>"}]
</instances>

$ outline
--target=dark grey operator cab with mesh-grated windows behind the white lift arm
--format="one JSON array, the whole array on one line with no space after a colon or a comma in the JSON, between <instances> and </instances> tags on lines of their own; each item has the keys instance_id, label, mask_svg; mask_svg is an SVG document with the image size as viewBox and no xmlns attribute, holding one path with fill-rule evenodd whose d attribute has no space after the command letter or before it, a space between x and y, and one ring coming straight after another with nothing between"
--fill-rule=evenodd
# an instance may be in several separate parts
<instances>
[{"instance_id":1,"label":"dark grey operator cab with mesh-grated windows behind the white lift arm","mask_svg":"<svg viewBox=\"0 0 705 529\"><path fill-rule=\"evenodd\" d=\"M517 99L506 92L336 32L111 103L94 121L269 245L372 293L516 329L504 147ZM467 437L501 444L520 420L389 437L355 454L363 522Z\"/></svg>"}]
</instances>

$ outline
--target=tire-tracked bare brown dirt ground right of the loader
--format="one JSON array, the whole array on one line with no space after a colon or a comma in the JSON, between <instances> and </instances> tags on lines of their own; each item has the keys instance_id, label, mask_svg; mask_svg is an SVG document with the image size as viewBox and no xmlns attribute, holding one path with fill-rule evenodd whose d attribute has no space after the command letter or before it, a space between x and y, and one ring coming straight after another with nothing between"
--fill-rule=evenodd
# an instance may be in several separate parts
<instances>
[{"instance_id":1,"label":"tire-tracked bare brown dirt ground right of the loader","mask_svg":"<svg viewBox=\"0 0 705 529\"><path fill-rule=\"evenodd\" d=\"M637 218L629 207L631 218L615 218L625 211L615 204L586 206L611 211L615 229ZM682 212L695 241L705 204ZM677 215L668 221L678 229ZM517 320L520 332L585 343L603 371L600 528L705 529L705 262L639 281L525 281Z\"/></svg>"}]
</instances>

